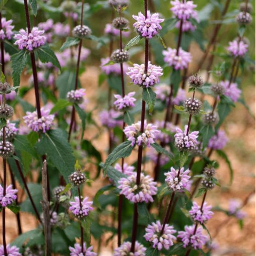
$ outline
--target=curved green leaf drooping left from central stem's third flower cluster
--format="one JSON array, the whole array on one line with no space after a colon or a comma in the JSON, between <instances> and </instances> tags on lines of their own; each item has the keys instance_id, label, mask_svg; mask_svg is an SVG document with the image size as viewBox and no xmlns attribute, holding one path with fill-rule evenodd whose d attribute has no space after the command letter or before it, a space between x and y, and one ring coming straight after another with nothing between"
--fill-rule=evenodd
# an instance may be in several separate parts
<instances>
[{"instance_id":1,"label":"curved green leaf drooping left from central stem's third flower cluster","mask_svg":"<svg viewBox=\"0 0 256 256\"><path fill-rule=\"evenodd\" d=\"M135 146L131 145L131 141L125 141L118 145L108 156L105 164L103 165L103 177L106 176L107 168L113 164L117 159L128 157L131 155Z\"/></svg>"}]
</instances>

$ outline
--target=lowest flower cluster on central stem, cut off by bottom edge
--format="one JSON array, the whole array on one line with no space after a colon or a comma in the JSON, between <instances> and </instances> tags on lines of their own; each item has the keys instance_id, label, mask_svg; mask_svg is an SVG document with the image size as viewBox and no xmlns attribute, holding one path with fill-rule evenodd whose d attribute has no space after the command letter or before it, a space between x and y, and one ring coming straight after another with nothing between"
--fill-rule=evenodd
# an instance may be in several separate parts
<instances>
[{"instance_id":1,"label":"lowest flower cluster on central stem, cut off by bottom edge","mask_svg":"<svg viewBox=\"0 0 256 256\"><path fill-rule=\"evenodd\" d=\"M134 253L131 253L131 242L124 242L115 249L114 256L146 256L146 248L139 242L135 242Z\"/></svg>"}]
</instances>

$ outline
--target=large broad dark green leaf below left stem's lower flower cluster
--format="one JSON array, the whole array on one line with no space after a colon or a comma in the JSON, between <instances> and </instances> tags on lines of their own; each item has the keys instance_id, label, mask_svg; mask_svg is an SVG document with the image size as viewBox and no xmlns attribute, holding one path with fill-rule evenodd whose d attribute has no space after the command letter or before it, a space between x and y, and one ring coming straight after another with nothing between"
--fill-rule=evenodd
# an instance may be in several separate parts
<instances>
[{"instance_id":1,"label":"large broad dark green leaf below left stem's lower flower cluster","mask_svg":"<svg viewBox=\"0 0 256 256\"><path fill-rule=\"evenodd\" d=\"M47 155L47 161L57 167L68 182L69 175L74 171L75 158L68 143L67 132L61 129L50 130L42 134L35 147L39 154Z\"/></svg>"}]
</instances>

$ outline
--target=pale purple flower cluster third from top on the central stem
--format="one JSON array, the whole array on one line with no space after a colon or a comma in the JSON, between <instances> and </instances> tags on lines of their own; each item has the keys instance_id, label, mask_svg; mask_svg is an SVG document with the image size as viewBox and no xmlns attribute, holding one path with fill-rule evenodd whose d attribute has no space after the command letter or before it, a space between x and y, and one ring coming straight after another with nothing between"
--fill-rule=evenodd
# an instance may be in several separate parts
<instances>
[{"instance_id":1,"label":"pale purple flower cluster third from top on the central stem","mask_svg":"<svg viewBox=\"0 0 256 256\"><path fill-rule=\"evenodd\" d=\"M147 124L147 120L144 122L144 132L140 132L141 121L128 125L124 129L124 133L126 138L131 141L131 146L133 147L135 144L138 146L145 145L150 147L151 144L155 143L155 139L159 131L157 130L157 126L153 124Z\"/></svg>"}]
</instances>

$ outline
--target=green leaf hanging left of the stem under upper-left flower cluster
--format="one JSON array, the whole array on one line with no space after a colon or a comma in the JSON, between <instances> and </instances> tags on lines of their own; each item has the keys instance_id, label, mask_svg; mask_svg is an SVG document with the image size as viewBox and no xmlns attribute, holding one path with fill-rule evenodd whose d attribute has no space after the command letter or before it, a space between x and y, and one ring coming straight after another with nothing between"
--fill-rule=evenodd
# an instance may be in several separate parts
<instances>
[{"instance_id":1,"label":"green leaf hanging left of the stem under upper-left flower cluster","mask_svg":"<svg viewBox=\"0 0 256 256\"><path fill-rule=\"evenodd\" d=\"M22 51L19 51L18 53L11 55L11 61L12 61L13 86L19 86L20 75L28 62L28 52L25 50L22 50Z\"/></svg>"}]
</instances>

